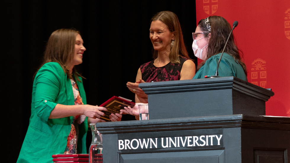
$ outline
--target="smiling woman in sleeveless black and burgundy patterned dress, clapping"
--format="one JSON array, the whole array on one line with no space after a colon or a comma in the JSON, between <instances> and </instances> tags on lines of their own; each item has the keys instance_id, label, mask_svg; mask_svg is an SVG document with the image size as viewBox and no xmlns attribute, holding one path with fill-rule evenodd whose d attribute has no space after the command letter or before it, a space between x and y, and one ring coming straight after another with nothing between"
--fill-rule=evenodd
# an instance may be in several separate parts
<instances>
[{"instance_id":1,"label":"smiling woman in sleeveless black and burgundy patterned dress, clapping","mask_svg":"<svg viewBox=\"0 0 290 163\"><path fill-rule=\"evenodd\" d=\"M150 40L154 60L140 66L135 83L127 83L136 94L136 103L148 103L147 94L138 87L139 83L192 79L195 74L195 64L186 51L176 14L170 11L157 13L151 19Z\"/></svg>"}]
</instances>

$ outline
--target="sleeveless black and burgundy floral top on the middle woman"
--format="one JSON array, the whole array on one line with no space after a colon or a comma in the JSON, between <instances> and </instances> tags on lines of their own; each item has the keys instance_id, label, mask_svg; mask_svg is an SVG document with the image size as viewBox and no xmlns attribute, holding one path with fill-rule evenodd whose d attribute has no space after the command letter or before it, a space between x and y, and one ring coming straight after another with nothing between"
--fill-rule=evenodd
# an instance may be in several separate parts
<instances>
[{"instance_id":1,"label":"sleeveless black and burgundy floral top on the middle woman","mask_svg":"<svg viewBox=\"0 0 290 163\"><path fill-rule=\"evenodd\" d=\"M179 57L180 63L168 63L162 67L154 66L154 60L140 66L142 80L145 82L162 82L180 80L180 71L183 63L190 58Z\"/></svg>"}]
</instances>

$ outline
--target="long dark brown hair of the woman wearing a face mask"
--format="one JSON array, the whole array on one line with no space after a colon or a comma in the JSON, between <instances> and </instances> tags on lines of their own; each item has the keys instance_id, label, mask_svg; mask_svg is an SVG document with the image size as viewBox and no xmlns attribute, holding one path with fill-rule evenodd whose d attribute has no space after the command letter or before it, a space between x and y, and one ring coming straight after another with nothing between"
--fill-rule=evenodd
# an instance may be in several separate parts
<instances>
[{"instance_id":1,"label":"long dark brown hair of the woman wearing a face mask","mask_svg":"<svg viewBox=\"0 0 290 163\"><path fill-rule=\"evenodd\" d=\"M205 33L205 39L208 40L207 58L205 61L207 61L210 57L214 55L222 53L225 43L231 32L231 25L225 18L220 16L210 16L208 17L208 19L211 26L211 32L208 31L204 19L201 19L198 23L199 28L202 30L202 32ZM211 33L210 38L209 33ZM233 33L228 39L228 44L225 47L224 53L228 53L229 55L231 55L235 59L235 61L243 67L244 72L247 76L246 64L241 60L241 58L243 58L241 57L243 56L243 52L239 50L236 46ZM202 61L197 66L197 69L200 69L204 65L205 61Z\"/></svg>"}]
</instances>

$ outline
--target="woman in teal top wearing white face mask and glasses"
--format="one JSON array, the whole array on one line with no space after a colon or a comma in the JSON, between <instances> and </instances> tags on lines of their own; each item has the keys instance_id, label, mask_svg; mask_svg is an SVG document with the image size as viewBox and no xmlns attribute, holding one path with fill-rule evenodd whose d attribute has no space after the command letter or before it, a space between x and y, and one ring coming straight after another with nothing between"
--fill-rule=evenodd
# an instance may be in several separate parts
<instances>
[{"instance_id":1,"label":"woman in teal top wearing white face mask and glasses","mask_svg":"<svg viewBox=\"0 0 290 163\"><path fill-rule=\"evenodd\" d=\"M203 61L197 66L198 71L193 79L201 79L206 75L215 75L218 60L230 32L231 25L223 17L210 16L199 21L195 33L192 33L194 40L192 49L194 55ZM241 51L235 44L234 36L231 34L219 64L219 76L235 76L248 81L247 68L241 60L240 53Z\"/></svg>"}]
</instances>

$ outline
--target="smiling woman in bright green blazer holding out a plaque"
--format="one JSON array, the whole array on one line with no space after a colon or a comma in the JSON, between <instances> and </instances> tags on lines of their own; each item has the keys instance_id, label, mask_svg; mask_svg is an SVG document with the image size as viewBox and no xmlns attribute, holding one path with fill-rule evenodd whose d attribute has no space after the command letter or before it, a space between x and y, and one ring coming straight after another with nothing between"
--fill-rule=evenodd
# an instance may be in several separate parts
<instances>
[{"instance_id":1,"label":"smiling woman in bright green blazer holding out a plaque","mask_svg":"<svg viewBox=\"0 0 290 163\"><path fill-rule=\"evenodd\" d=\"M75 65L86 48L77 30L54 31L37 71L32 90L31 116L17 162L52 162L53 154L86 154L88 123L103 122L104 107L86 104L82 76ZM112 121L122 115L112 114Z\"/></svg>"}]
</instances>

